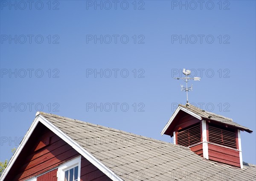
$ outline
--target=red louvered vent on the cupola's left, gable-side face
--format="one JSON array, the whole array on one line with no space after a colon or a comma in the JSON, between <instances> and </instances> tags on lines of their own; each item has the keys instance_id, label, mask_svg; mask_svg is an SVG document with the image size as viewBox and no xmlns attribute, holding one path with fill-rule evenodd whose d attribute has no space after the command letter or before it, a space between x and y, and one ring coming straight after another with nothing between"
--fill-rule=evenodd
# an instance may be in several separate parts
<instances>
[{"instance_id":1,"label":"red louvered vent on the cupola's left, gable-side face","mask_svg":"<svg viewBox=\"0 0 256 181\"><path fill-rule=\"evenodd\" d=\"M177 144L189 147L201 142L200 123L194 124L185 130L177 132Z\"/></svg>"}]
</instances>

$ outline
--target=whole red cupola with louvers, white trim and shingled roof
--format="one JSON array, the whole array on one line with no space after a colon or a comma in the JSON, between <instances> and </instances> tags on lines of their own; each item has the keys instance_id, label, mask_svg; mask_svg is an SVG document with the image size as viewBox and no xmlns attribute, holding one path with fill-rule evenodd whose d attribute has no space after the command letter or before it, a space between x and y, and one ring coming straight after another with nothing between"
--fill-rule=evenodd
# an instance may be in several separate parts
<instances>
[{"instance_id":1,"label":"whole red cupola with louvers, white trim and shingled roof","mask_svg":"<svg viewBox=\"0 0 256 181\"><path fill-rule=\"evenodd\" d=\"M187 103L177 107L161 135L173 137L174 144L189 147L206 159L243 168L240 130L253 132Z\"/></svg>"}]
</instances>

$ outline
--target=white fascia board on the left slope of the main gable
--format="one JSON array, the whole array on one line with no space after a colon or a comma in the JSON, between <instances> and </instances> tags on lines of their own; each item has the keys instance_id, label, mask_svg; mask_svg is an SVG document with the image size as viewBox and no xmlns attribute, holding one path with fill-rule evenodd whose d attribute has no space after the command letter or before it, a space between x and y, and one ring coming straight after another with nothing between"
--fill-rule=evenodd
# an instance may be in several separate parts
<instances>
[{"instance_id":1,"label":"white fascia board on the left slope of the main gable","mask_svg":"<svg viewBox=\"0 0 256 181\"><path fill-rule=\"evenodd\" d=\"M6 177L6 175L9 173L10 169L12 168L12 165L15 163L17 157L20 155L20 152L23 150L23 147L25 146L26 142L28 141L28 139L30 138L31 134L35 130L35 127L37 126L38 122L39 122L39 119L38 119L38 117L36 117L34 119L34 121L32 122L32 125L29 127L29 130L27 131L26 135L24 136L24 138L20 142L19 147L17 148L17 150L15 151L15 153L12 156L11 160L9 161L9 163L8 163L6 169L4 170L3 174L1 175L0 181L3 181L4 178Z\"/></svg>"}]
</instances>

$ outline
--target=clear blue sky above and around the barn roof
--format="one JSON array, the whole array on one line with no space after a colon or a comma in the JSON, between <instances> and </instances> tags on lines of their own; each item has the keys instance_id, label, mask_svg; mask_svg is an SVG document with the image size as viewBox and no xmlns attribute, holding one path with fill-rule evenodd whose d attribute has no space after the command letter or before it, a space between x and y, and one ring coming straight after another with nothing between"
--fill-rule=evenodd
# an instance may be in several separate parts
<instances>
[{"instance_id":1,"label":"clear blue sky above and around the barn roof","mask_svg":"<svg viewBox=\"0 0 256 181\"><path fill-rule=\"evenodd\" d=\"M255 1L97 3L1 0L0 160L38 110L170 142L187 68L201 77L189 102L253 130L241 140L256 164Z\"/></svg>"}]
</instances>

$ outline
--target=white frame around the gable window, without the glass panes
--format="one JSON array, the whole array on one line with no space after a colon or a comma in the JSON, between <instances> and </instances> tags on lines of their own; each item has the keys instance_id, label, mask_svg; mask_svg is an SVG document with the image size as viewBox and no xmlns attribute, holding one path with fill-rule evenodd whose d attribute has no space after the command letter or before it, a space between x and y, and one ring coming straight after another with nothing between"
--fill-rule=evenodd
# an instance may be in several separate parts
<instances>
[{"instance_id":1,"label":"white frame around the gable window, without the glass panes","mask_svg":"<svg viewBox=\"0 0 256 181\"><path fill-rule=\"evenodd\" d=\"M64 181L65 179L65 171L67 171L70 168L78 166L78 181L80 181L80 174L81 174L81 156L78 156L76 158L71 159L70 161L65 162L64 164L61 164L58 167L57 172L57 179L59 181Z\"/></svg>"}]
</instances>

